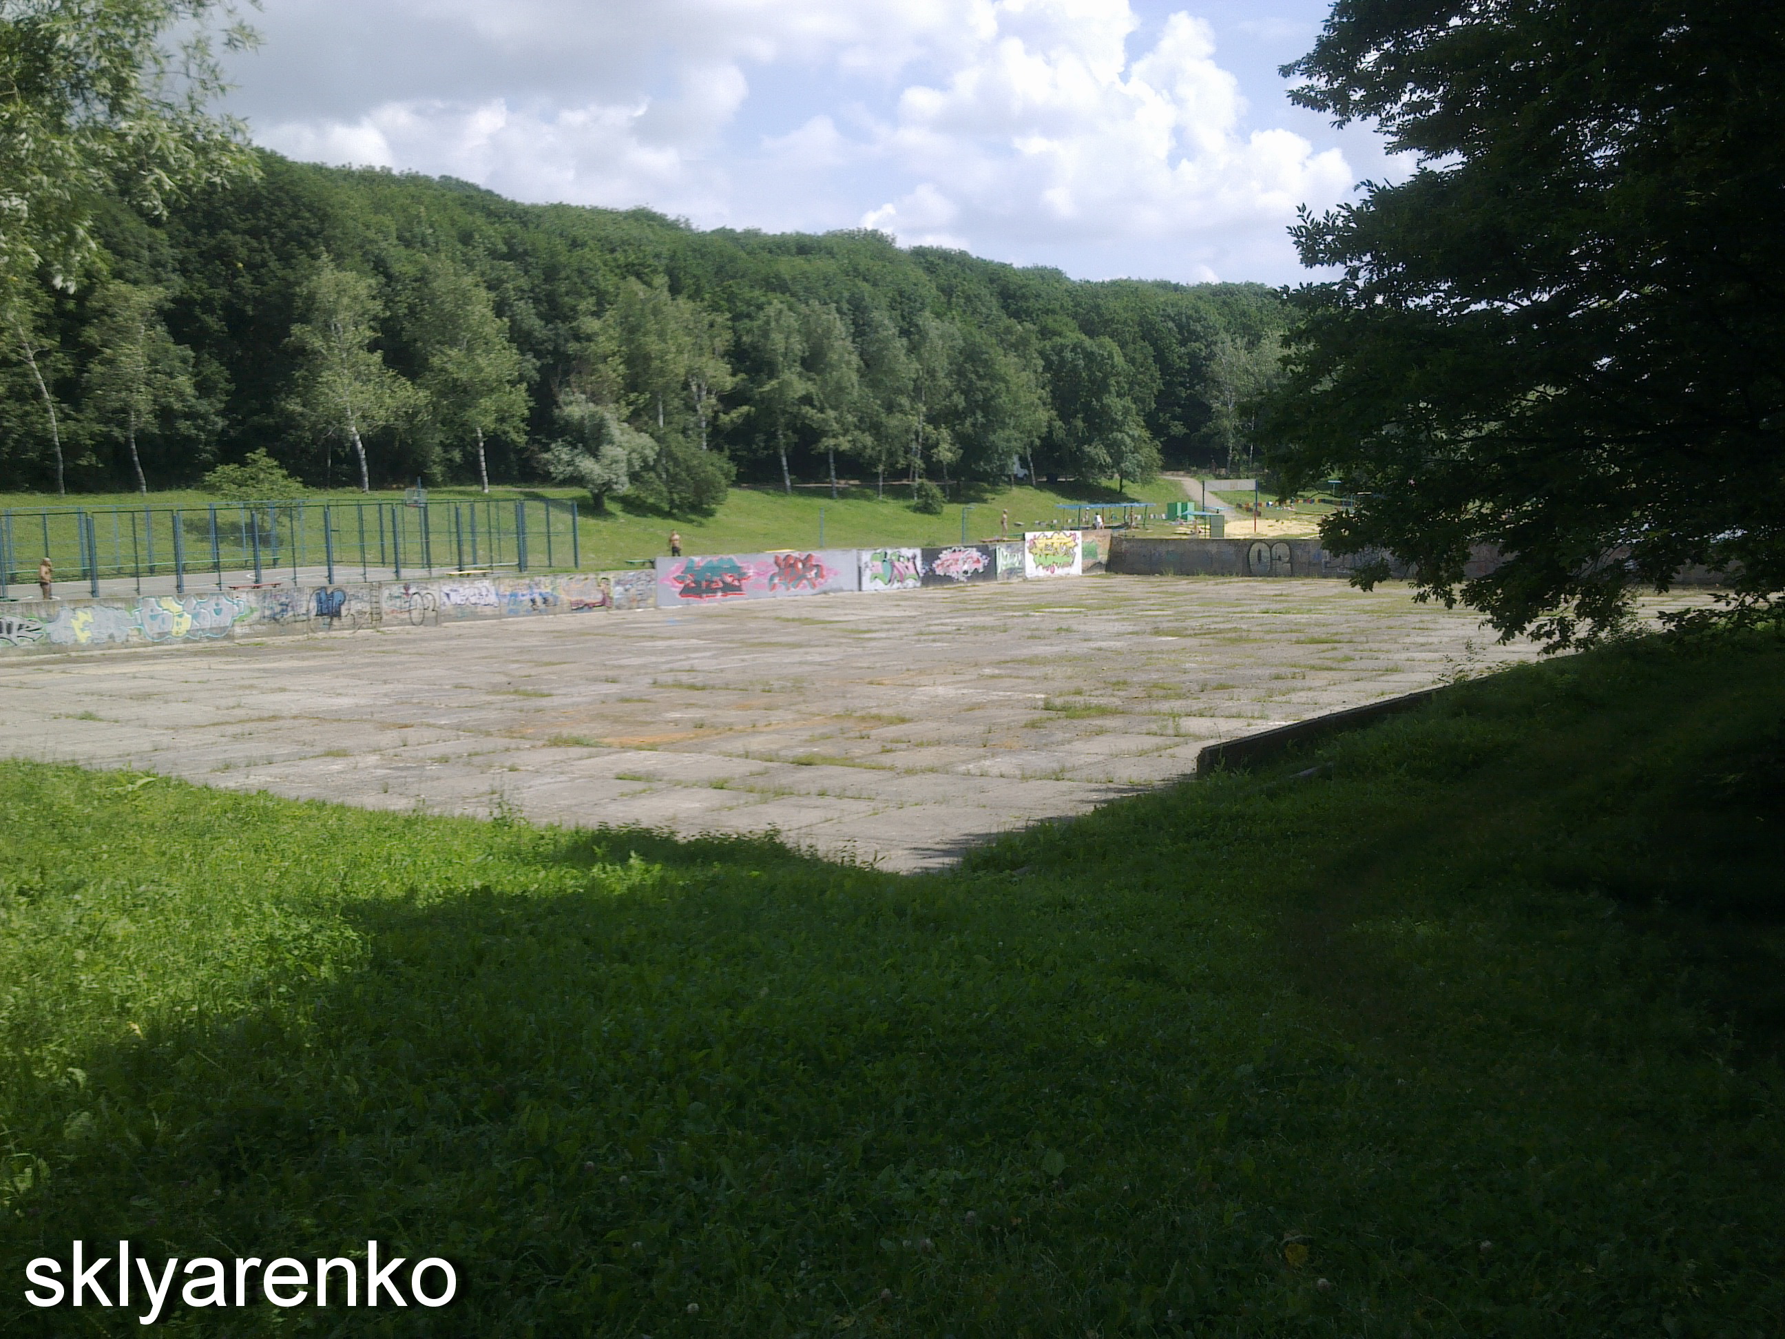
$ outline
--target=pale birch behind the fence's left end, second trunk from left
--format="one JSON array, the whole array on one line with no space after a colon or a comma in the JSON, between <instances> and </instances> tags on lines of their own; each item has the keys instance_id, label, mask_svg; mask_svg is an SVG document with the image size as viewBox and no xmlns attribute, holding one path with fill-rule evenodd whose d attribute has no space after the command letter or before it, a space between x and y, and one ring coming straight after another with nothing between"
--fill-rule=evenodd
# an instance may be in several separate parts
<instances>
[{"instance_id":1,"label":"pale birch behind the fence's left end, second trunk from left","mask_svg":"<svg viewBox=\"0 0 1785 1339\"><path fill-rule=\"evenodd\" d=\"M173 343L161 320L166 289L107 282L93 295L87 339L96 352L86 371L86 409L95 425L123 437L137 493L148 493L139 437L162 416L198 407L193 352Z\"/></svg>"}]
</instances>

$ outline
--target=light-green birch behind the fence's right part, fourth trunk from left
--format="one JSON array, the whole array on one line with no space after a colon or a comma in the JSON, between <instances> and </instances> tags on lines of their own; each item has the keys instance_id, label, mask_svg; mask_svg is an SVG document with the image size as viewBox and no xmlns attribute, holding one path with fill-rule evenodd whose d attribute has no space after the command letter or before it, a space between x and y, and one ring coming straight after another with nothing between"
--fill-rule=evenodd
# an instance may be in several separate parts
<instances>
[{"instance_id":1,"label":"light-green birch behind the fence's right part, fourth trunk from left","mask_svg":"<svg viewBox=\"0 0 1785 1339\"><path fill-rule=\"evenodd\" d=\"M489 289L452 261L428 268L418 336L428 407L461 450L475 450L477 480L489 493L486 439L527 437L527 361L509 341Z\"/></svg>"}]
</instances>

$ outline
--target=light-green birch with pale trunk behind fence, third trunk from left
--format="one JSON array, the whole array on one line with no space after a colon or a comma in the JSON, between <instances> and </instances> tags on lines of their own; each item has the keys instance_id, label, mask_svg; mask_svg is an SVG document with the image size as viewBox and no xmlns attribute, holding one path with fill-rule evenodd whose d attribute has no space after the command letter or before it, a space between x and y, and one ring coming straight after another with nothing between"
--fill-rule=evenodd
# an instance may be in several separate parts
<instances>
[{"instance_id":1,"label":"light-green birch with pale trunk behind fence, third trunk from left","mask_svg":"<svg viewBox=\"0 0 1785 1339\"><path fill-rule=\"evenodd\" d=\"M359 489L369 493L366 436L421 409L423 396L373 348L384 304L371 279L323 255L303 284L298 311L291 345L300 371L289 407L314 432L353 446Z\"/></svg>"}]
</instances>

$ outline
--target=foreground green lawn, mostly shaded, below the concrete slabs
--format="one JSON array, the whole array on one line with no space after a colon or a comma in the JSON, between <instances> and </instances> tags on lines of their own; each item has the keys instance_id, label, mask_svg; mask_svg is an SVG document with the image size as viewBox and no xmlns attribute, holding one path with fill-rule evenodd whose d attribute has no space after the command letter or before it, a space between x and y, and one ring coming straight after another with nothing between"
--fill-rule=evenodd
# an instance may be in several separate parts
<instances>
[{"instance_id":1,"label":"foreground green lawn, mostly shaded, below the concrete slabs","mask_svg":"<svg viewBox=\"0 0 1785 1339\"><path fill-rule=\"evenodd\" d=\"M1610 648L928 877L0 764L0 1330L1776 1335L1781 719Z\"/></svg>"}]
</instances>

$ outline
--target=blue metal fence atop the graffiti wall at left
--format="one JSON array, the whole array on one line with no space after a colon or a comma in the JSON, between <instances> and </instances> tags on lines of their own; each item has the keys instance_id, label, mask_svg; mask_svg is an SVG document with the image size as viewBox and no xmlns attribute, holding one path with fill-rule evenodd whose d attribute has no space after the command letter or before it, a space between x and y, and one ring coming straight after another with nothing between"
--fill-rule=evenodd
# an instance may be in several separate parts
<instances>
[{"instance_id":1,"label":"blue metal fence atop the graffiti wall at left","mask_svg":"<svg viewBox=\"0 0 1785 1339\"><path fill-rule=\"evenodd\" d=\"M205 507L39 507L0 511L0 596L32 587L48 557L55 580L173 578L193 586L284 580L402 580L437 571L575 570L577 503L218 502Z\"/></svg>"}]
</instances>

